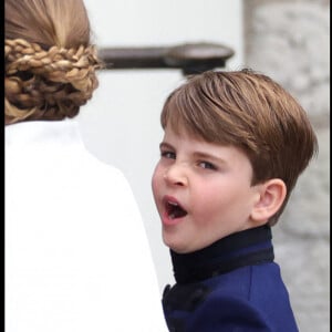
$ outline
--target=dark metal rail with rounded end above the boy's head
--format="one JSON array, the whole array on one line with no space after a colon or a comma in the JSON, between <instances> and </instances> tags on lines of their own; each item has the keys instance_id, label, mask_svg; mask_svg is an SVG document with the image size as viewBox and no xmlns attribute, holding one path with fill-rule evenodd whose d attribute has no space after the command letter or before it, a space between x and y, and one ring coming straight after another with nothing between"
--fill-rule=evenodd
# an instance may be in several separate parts
<instances>
[{"instance_id":1,"label":"dark metal rail with rounded end above the boy's head","mask_svg":"<svg viewBox=\"0 0 332 332\"><path fill-rule=\"evenodd\" d=\"M225 68L234 50L215 43L185 43L155 48L103 48L100 58L106 70L180 69L184 75Z\"/></svg>"}]
</instances>

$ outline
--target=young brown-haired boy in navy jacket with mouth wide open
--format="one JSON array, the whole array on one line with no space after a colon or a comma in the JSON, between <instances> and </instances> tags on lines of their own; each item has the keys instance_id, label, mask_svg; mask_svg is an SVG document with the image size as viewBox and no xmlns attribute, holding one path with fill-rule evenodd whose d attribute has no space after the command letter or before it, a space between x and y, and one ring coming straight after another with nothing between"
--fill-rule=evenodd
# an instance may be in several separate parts
<instances>
[{"instance_id":1,"label":"young brown-haired boy in navy jacket with mouth wide open","mask_svg":"<svg viewBox=\"0 0 332 332\"><path fill-rule=\"evenodd\" d=\"M153 193L176 284L173 332L298 331L271 226L318 149L303 108L251 70L205 72L166 100Z\"/></svg>"}]
</instances>

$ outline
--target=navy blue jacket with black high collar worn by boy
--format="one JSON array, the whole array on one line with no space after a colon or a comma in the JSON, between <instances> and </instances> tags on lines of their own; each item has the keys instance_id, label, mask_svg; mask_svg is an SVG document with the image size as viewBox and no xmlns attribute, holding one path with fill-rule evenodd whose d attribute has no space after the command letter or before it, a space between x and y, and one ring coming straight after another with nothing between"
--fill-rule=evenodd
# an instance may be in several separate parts
<instances>
[{"instance_id":1,"label":"navy blue jacket with black high collar worn by boy","mask_svg":"<svg viewBox=\"0 0 332 332\"><path fill-rule=\"evenodd\" d=\"M298 332L271 238L262 226L191 253L170 250L176 284L163 294L169 331Z\"/></svg>"}]
</instances>

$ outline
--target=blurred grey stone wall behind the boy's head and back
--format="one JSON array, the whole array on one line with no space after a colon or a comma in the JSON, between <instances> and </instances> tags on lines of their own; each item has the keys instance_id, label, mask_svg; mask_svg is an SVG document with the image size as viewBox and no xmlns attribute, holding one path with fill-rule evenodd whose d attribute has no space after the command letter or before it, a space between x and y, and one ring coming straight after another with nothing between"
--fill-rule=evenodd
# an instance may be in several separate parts
<instances>
[{"instance_id":1,"label":"blurred grey stone wall behind the boy's head and back","mask_svg":"<svg viewBox=\"0 0 332 332\"><path fill-rule=\"evenodd\" d=\"M319 155L272 228L276 261L301 332L330 331L330 1L243 0L245 64L309 113ZM273 299L271 299L273 301ZM287 332L287 331L284 331Z\"/></svg>"}]
</instances>

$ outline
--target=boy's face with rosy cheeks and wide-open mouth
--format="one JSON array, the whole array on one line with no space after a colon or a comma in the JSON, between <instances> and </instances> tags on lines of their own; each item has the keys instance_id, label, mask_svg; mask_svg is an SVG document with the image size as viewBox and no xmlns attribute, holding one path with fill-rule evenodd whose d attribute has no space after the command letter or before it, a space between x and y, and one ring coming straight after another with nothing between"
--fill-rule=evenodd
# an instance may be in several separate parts
<instances>
[{"instance_id":1,"label":"boy's face with rosy cheeks and wide-open mouth","mask_svg":"<svg viewBox=\"0 0 332 332\"><path fill-rule=\"evenodd\" d=\"M179 253L203 249L252 228L259 199L252 167L234 146L198 141L166 127L152 187L166 246Z\"/></svg>"}]
</instances>

